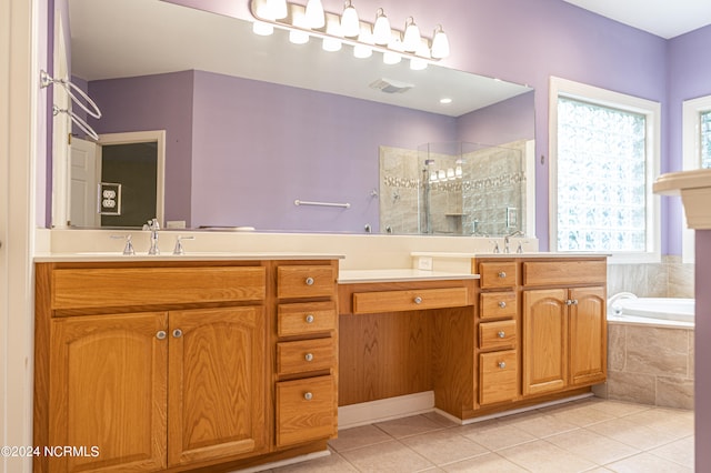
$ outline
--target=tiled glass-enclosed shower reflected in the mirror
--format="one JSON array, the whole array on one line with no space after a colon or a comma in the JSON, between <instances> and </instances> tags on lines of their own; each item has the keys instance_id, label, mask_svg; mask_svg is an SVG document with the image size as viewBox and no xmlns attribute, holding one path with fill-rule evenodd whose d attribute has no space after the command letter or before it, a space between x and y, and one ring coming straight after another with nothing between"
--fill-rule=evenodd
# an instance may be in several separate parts
<instances>
[{"instance_id":1,"label":"tiled glass-enclosed shower reflected in the mirror","mask_svg":"<svg viewBox=\"0 0 711 473\"><path fill-rule=\"evenodd\" d=\"M380 232L527 233L528 141L380 148ZM530 171L529 171L530 172Z\"/></svg>"}]
</instances>

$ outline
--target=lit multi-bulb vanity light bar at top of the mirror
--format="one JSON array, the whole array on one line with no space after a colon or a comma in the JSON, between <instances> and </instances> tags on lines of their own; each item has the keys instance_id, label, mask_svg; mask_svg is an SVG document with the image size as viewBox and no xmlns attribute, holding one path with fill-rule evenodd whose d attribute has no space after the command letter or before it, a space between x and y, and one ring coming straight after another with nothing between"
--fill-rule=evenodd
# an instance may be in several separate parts
<instances>
[{"instance_id":1,"label":"lit multi-bulb vanity light bar at top of the mirror","mask_svg":"<svg viewBox=\"0 0 711 473\"><path fill-rule=\"evenodd\" d=\"M268 36L280 28L289 31L290 41L296 43L308 42L310 37L319 38L326 51L338 51L348 44L359 58L378 51L383 53L387 64L397 64L407 58L411 69L424 69L449 54L449 42L439 24L430 40L420 34L412 17L408 17L401 31L391 28L382 8L377 10L371 23L360 20L351 0L344 0L341 14L323 11L322 0L301 1L306 1L306 6L287 0L249 0L256 20L252 30Z\"/></svg>"}]
</instances>

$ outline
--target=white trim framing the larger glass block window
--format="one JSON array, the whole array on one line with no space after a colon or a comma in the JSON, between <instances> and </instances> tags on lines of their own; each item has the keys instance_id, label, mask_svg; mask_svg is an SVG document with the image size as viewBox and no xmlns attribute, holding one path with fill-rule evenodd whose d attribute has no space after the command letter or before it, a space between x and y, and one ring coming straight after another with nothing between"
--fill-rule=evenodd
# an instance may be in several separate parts
<instances>
[{"instance_id":1,"label":"white trim framing the larger glass block window","mask_svg":"<svg viewBox=\"0 0 711 473\"><path fill-rule=\"evenodd\" d=\"M549 90L549 245L558 249L558 98L567 97L641 113L647 117L648 165L647 165L647 251L609 252L610 263L661 262L660 198L652 192L652 183L659 175L661 155L661 104L624 93L613 92L551 76Z\"/></svg>"}]
</instances>

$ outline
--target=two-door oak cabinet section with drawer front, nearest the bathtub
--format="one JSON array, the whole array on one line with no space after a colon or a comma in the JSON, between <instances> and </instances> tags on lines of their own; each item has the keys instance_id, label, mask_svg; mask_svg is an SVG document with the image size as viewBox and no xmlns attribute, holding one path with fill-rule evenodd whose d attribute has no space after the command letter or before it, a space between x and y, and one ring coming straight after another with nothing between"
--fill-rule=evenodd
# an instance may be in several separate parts
<instances>
[{"instance_id":1,"label":"two-door oak cabinet section with drawer front, nearest the bathtub","mask_svg":"<svg viewBox=\"0 0 711 473\"><path fill-rule=\"evenodd\" d=\"M605 272L604 261L523 263L524 396L605 380Z\"/></svg>"}]
</instances>

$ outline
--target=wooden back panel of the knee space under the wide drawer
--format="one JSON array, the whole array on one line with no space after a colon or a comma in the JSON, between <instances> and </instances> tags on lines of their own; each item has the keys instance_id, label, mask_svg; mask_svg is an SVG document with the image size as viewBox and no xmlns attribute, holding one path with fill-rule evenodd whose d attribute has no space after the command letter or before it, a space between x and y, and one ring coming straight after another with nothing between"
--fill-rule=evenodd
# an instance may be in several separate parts
<instances>
[{"instance_id":1,"label":"wooden back panel of the knee space under the wide drawer","mask_svg":"<svg viewBox=\"0 0 711 473\"><path fill-rule=\"evenodd\" d=\"M339 405L430 391L438 313L340 315Z\"/></svg>"}]
</instances>

